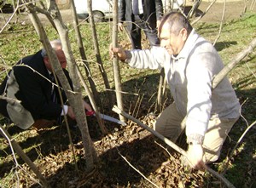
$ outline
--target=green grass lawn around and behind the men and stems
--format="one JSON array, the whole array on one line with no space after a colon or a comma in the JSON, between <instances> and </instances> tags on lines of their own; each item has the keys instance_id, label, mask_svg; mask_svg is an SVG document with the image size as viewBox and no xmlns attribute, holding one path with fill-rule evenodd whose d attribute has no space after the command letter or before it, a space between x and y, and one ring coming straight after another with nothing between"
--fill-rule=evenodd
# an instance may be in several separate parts
<instances>
[{"instance_id":1,"label":"green grass lawn around and behind the men and stems","mask_svg":"<svg viewBox=\"0 0 256 188\"><path fill-rule=\"evenodd\" d=\"M236 57L242 49L247 48L248 43L256 37L256 14L246 14L241 17L240 20L231 20L225 23L221 36L218 39L215 47L217 48L220 56L224 60L224 64L227 64ZM71 45L73 48L73 54L75 59L80 59L79 48L76 44L76 37L73 31L72 25L67 25L69 31L69 37ZM112 61L108 56L108 45L111 43L111 33L112 26L109 23L101 23L96 26L97 37L99 40L99 47L102 57L103 66L108 74L108 80L111 87L114 86L113 83L113 69ZM198 23L195 25L195 30L198 31L203 37L207 38L209 41L213 42L218 36L218 24L206 24ZM57 37L56 32L50 27L46 26L46 31L49 33L49 39ZM90 26L88 24L83 24L80 26L81 35L83 38L84 49L89 61L90 70L92 72L92 77L96 83L98 91L104 92L103 81L101 73L96 64L95 51L93 47L93 40L91 36ZM125 46L126 48L131 48L125 33L119 33L119 44ZM145 47L148 46L144 43ZM0 34L0 63L7 65L14 65L20 58L33 54L42 48L41 43L38 41L38 36L36 31L30 25L21 26L19 24L11 25L9 31L3 31ZM250 124L255 121L256 112L256 53L255 49L253 54L250 54L245 60L243 60L236 68L229 73L230 82L236 89L236 94L241 102L241 114ZM120 63L120 74L122 78L123 90L131 94L125 94L125 105L126 108L134 108L135 103L138 99L143 98L143 103L148 103L151 106L154 104L155 93L157 92L157 86L159 81L159 71L152 70L137 70L128 67L125 64ZM80 66L83 70L83 66ZM3 68L1 68L3 71ZM4 72L0 75L0 80L3 80L5 76ZM134 95L134 94L138 94ZM153 99L151 97L153 96ZM104 99L103 99L104 100ZM131 102L130 102L131 101ZM143 107L142 106L142 107ZM143 109L141 116L146 115L148 109ZM247 123L242 118L236 123L236 126L232 129L230 138L227 139L224 145L224 158L230 150L236 145L236 141L239 139L241 134L247 128ZM1 124L4 124L2 120ZM252 129L242 140L242 145L236 149L236 155L231 159L229 169L226 173L226 178L230 180L231 183L236 185L236 187L253 187L255 186L255 128ZM16 140L22 144L24 140L28 140L35 135L28 135L26 131L22 133L12 133ZM54 137L55 135L52 135ZM49 140L49 143L53 140ZM61 140L56 140L57 143L61 143ZM50 148L44 148L40 144L40 140L32 145L26 145L26 152L35 152L33 148L37 147L42 149L43 155L48 155L51 150L54 150L53 146ZM10 151L7 151L8 143L0 139L0 166L5 162L12 162L12 157L10 156ZM49 152L48 152L49 150ZM63 149L64 151L66 149ZM8 156L8 157L7 157ZM212 168L217 170L223 170L224 162L220 162L213 165ZM9 174L6 172L4 178L6 182L9 182L14 174ZM3 174L1 175L3 176ZM0 183L0 186L2 184ZM2 185L3 186L3 185ZM5 186L3 186L5 187Z\"/></svg>"}]
</instances>

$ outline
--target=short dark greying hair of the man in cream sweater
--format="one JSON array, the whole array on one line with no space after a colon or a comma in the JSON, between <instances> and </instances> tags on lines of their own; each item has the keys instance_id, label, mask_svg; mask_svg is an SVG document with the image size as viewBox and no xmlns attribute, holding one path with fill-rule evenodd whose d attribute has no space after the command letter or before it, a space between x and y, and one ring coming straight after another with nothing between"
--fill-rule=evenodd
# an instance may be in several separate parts
<instances>
[{"instance_id":1,"label":"short dark greying hair of the man in cream sweater","mask_svg":"<svg viewBox=\"0 0 256 188\"><path fill-rule=\"evenodd\" d=\"M185 28L188 33L193 30L189 20L179 12L170 12L162 17L160 20L159 34L161 33L162 27L165 23L168 23L168 26L170 26L170 32L174 34L177 34L183 28Z\"/></svg>"}]
</instances>

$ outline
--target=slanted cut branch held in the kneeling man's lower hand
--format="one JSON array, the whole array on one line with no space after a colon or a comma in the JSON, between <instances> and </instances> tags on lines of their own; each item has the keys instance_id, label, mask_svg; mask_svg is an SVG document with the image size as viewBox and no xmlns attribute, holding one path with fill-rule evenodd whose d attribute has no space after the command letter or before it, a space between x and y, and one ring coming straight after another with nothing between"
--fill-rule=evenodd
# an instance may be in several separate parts
<instances>
[{"instance_id":1,"label":"slanted cut branch held in the kneeling man's lower hand","mask_svg":"<svg viewBox=\"0 0 256 188\"><path fill-rule=\"evenodd\" d=\"M166 137L164 137L163 135L159 134L158 132L156 132L154 129L149 128L147 125L143 124L143 122L138 121L136 118L131 117L131 115L127 114L125 111L121 111L116 105L113 106L112 109L114 112L116 113L120 113L122 114L124 117L130 119L133 122L136 122L139 126L145 128L146 130L148 130L150 133L154 134L155 136L157 136L160 140L163 140L167 145L171 146L174 150L176 150L177 152L179 152L180 154L182 154L184 157L187 157L187 152L184 151L182 148L180 148L179 146L177 146L176 144L174 144L171 140L168 140ZM230 188L235 188L234 185L232 185L230 183L230 181L228 179L225 179L223 175L218 174L217 172L215 172L212 168L209 168L206 166L207 171L212 174L213 176L215 176L216 178L222 180L224 182L224 184L227 187Z\"/></svg>"}]
</instances>

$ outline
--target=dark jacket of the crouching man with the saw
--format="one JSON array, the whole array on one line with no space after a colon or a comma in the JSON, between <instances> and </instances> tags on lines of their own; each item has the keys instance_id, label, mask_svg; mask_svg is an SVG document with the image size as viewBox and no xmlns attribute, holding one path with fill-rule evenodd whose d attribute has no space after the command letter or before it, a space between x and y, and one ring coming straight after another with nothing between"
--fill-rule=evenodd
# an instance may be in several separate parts
<instances>
[{"instance_id":1,"label":"dark jacket of the crouching man with the saw","mask_svg":"<svg viewBox=\"0 0 256 188\"><path fill-rule=\"evenodd\" d=\"M23 64L25 66L18 66ZM29 66L29 67L27 67ZM34 71L33 71L34 70ZM36 54L27 56L17 63L17 66L13 67L13 73L15 76L15 82L18 84L19 89L15 93L15 98L21 101L21 105L31 113L34 120L47 119L55 120L61 116L62 107L60 104L56 104L51 101L52 84L49 83L44 77L49 79L49 71L44 65L44 59L41 55L41 50ZM68 82L73 88L72 81L68 75L68 71L63 69ZM38 73L37 73L38 72ZM41 75L39 75L41 74ZM3 93L3 88L6 85L7 78L1 85L0 92ZM7 92L11 90L9 85L7 86ZM57 98L60 100L59 93L55 87ZM62 92L62 98L65 102L67 100L66 94ZM1 110L6 110L7 103L2 101L0 103ZM6 111L0 111L3 116L6 115ZM26 118L26 117L24 117Z\"/></svg>"}]
</instances>

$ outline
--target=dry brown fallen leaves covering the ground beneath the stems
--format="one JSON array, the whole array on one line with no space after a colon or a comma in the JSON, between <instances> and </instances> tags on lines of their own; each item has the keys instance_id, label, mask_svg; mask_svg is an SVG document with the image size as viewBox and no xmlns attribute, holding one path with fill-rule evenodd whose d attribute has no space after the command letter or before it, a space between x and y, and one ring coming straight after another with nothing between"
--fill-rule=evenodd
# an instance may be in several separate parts
<instances>
[{"instance_id":1,"label":"dry brown fallen leaves covering the ground beneath the stems","mask_svg":"<svg viewBox=\"0 0 256 188\"><path fill-rule=\"evenodd\" d=\"M143 117L140 121L152 128L155 117ZM38 157L37 165L49 184L56 188L171 188L204 185L204 174L183 166L177 152L133 122L113 128L111 134L101 140L94 140L94 145L100 162L90 174L83 170L85 161L81 141L74 144L79 173L74 168L70 148L57 154ZM26 170L29 172L29 169ZM38 182L24 173L20 173L20 181L23 182L20 187L39 187Z\"/></svg>"}]
</instances>

